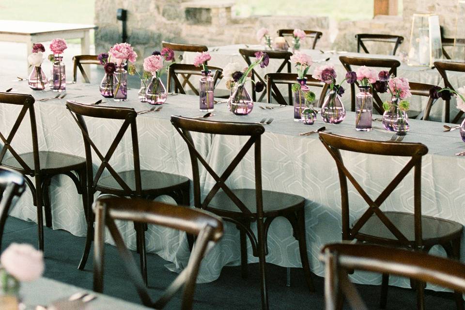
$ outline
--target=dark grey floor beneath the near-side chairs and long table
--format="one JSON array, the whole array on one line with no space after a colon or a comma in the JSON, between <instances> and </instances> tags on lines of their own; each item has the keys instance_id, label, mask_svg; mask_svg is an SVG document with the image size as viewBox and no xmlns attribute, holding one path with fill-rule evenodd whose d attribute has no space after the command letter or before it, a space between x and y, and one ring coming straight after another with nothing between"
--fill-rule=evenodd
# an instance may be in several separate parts
<instances>
[{"instance_id":1,"label":"dark grey floor beneath the near-side chairs and long table","mask_svg":"<svg viewBox=\"0 0 465 310\"><path fill-rule=\"evenodd\" d=\"M37 246L37 228L34 223L9 217L3 237L3 248L12 242L30 243ZM79 271L84 238L65 231L45 228L46 271L45 277L92 289L92 257L86 270ZM149 288L158 296L175 278L176 274L164 267L167 262L155 254L148 255ZM323 278L314 277L316 292L310 294L301 269L292 270L292 286L285 286L285 268L267 266L270 309L324 309ZM246 310L260 309L260 280L258 265L249 265L248 279L242 279L239 267L225 267L219 279L199 284L196 288L194 309ZM358 285L370 309L378 309L378 286ZM127 281L115 248L107 245L105 294L127 301L140 303L134 287ZM387 309L416 309L415 292L389 287ZM165 309L180 309L179 294ZM450 293L427 291L427 309L455 309ZM346 307L345 309L349 309Z\"/></svg>"}]
</instances>

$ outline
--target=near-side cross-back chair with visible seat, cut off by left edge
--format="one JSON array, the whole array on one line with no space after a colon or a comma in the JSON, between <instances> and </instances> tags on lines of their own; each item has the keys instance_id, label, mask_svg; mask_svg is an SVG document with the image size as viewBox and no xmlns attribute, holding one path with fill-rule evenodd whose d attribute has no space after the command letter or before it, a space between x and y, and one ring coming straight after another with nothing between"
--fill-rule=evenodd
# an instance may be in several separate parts
<instances>
[{"instance_id":1,"label":"near-side cross-back chair with visible seat, cut off by left edge","mask_svg":"<svg viewBox=\"0 0 465 310\"><path fill-rule=\"evenodd\" d=\"M10 132L0 133L3 147L0 152L0 165L20 172L31 189L34 205L37 207L37 227L39 233L39 249L44 250L44 228L42 208L45 208L47 227L52 227L52 209L50 206L49 187L54 176L64 174L73 180L78 193L82 195L84 209L87 201L86 161L84 158L52 151L39 151L37 123L35 120L34 97L19 93L0 93L0 103L21 106L15 124ZM12 140L26 114L29 114L31 126L32 152L18 154L12 146ZM7 152L9 154L7 154ZM64 206L63 206L64 207Z\"/></svg>"}]
</instances>

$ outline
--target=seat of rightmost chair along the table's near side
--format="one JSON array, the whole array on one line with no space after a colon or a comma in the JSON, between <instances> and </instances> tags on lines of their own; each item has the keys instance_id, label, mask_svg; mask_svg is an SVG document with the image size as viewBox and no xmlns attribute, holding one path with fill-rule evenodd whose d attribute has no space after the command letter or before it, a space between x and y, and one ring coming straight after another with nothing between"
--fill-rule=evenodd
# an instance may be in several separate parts
<instances>
[{"instance_id":1,"label":"seat of rightmost chair along the table's near side","mask_svg":"<svg viewBox=\"0 0 465 310\"><path fill-rule=\"evenodd\" d=\"M414 215L404 212L384 212L389 220L413 245L415 241ZM431 246L448 242L462 233L463 225L438 217L421 217L423 244ZM379 217L372 215L356 235L357 240L399 244L398 239L387 229Z\"/></svg>"}]
</instances>

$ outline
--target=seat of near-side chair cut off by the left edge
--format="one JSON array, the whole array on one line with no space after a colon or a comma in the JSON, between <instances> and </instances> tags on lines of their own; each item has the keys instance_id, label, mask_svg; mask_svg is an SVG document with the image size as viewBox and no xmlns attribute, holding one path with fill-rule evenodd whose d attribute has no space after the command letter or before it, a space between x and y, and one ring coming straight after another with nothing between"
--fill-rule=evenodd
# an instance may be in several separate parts
<instances>
[{"instance_id":1,"label":"seat of near-side chair cut off by the left edge","mask_svg":"<svg viewBox=\"0 0 465 310\"><path fill-rule=\"evenodd\" d=\"M34 153L19 154L19 156L31 169L34 169ZM42 171L53 173L85 169L86 166L85 158L59 152L40 151L39 160ZM25 171L15 157L3 159L1 165L17 171Z\"/></svg>"}]
</instances>

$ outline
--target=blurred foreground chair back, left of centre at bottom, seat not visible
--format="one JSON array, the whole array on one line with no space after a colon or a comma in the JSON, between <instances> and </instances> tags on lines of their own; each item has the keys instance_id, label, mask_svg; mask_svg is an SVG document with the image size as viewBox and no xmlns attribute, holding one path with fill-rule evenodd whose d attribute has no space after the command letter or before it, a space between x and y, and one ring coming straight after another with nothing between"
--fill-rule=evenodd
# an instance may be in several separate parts
<instances>
[{"instance_id":1,"label":"blurred foreground chair back, left of centre at bottom, seat not visible","mask_svg":"<svg viewBox=\"0 0 465 310\"><path fill-rule=\"evenodd\" d=\"M141 199L101 197L94 203L95 210L95 246L93 260L93 290L103 292L105 262L105 228L118 249L124 268L136 287L142 303L150 308L162 309L182 289L182 310L191 310L197 274L203 257L223 235L221 218L202 210L169 205L161 202L149 202ZM150 298L144 280L134 261L132 253L124 245L123 237L115 220L134 221L154 224L184 231L197 236L186 268L155 302ZM119 270L117 272L120 272Z\"/></svg>"}]
</instances>

